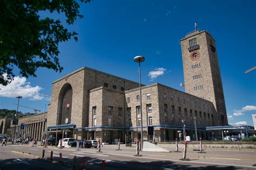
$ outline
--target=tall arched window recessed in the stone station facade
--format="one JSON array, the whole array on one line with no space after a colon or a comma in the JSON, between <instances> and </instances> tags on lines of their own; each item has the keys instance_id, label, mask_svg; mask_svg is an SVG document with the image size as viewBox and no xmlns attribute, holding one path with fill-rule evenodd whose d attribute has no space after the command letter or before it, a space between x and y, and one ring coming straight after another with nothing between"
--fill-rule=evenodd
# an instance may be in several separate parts
<instances>
[{"instance_id":1,"label":"tall arched window recessed in the stone station facade","mask_svg":"<svg viewBox=\"0 0 256 170\"><path fill-rule=\"evenodd\" d=\"M70 124L72 108L72 87L69 83L64 84L59 93L58 102L58 125Z\"/></svg>"}]
</instances>

